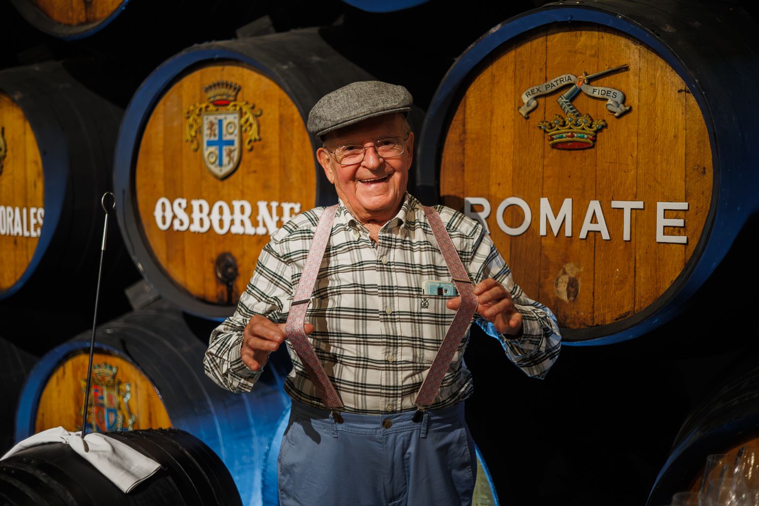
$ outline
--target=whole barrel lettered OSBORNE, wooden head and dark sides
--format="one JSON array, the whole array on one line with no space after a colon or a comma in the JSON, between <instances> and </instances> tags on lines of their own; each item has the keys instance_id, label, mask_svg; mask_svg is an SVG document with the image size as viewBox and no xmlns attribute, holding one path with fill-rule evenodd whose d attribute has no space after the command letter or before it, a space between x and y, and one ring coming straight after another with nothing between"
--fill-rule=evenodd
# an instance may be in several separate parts
<instances>
[{"instance_id":1,"label":"whole barrel lettered OSBORNE, wooden head and dark sides","mask_svg":"<svg viewBox=\"0 0 759 506\"><path fill-rule=\"evenodd\" d=\"M299 30L193 46L145 80L114 178L125 242L159 294L198 316L232 313L269 236L336 201L310 108L370 79L318 30Z\"/></svg>"}]
</instances>

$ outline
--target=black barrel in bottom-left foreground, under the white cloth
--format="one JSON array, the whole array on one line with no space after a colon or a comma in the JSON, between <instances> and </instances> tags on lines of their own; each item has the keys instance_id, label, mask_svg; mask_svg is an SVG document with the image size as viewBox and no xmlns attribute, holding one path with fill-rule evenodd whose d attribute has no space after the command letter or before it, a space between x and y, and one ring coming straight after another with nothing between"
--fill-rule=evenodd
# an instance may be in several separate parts
<instances>
[{"instance_id":1,"label":"black barrel in bottom-left foreground, under the white cloth","mask_svg":"<svg viewBox=\"0 0 759 506\"><path fill-rule=\"evenodd\" d=\"M85 504L242 504L219 456L176 429L111 432L110 437L156 460L161 469L124 494L65 443L47 443L0 461L0 500L8 506Z\"/></svg>"}]
</instances>

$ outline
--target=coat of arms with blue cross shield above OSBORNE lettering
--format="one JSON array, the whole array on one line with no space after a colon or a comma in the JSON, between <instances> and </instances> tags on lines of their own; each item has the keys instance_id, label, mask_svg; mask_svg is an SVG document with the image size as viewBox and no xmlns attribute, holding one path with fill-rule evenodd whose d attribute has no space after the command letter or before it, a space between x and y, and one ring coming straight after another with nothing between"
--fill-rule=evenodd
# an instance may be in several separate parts
<instances>
[{"instance_id":1,"label":"coat of arms with blue cross shield above OSBORNE lettering","mask_svg":"<svg viewBox=\"0 0 759 506\"><path fill-rule=\"evenodd\" d=\"M203 87L208 102L195 104L184 112L187 120L184 140L193 151L203 153L206 168L219 179L232 174L238 165L242 149L253 150L254 141L261 140L258 119L261 109L237 100L240 85L231 81L216 81ZM202 132L200 145L198 133Z\"/></svg>"}]
</instances>

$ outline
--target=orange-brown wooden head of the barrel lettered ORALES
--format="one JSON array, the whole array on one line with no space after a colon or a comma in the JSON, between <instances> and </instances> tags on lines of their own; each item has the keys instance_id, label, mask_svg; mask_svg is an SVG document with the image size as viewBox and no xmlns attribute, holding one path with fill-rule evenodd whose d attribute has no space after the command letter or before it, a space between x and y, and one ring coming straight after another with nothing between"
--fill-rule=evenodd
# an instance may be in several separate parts
<instances>
[{"instance_id":1,"label":"orange-brown wooden head of the barrel lettered ORALES","mask_svg":"<svg viewBox=\"0 0 759 506\"><path fill-rule=\"evenodd\" d=\"M0 206L41 208L45 199L43 166L32 127L24 112L8 96L0 93L0 129L7 155L0 172ZM2 209L5 211L5 209ZM23 214L22 214L23 215ZM6 212L6 222L7 222ZM15 221L15 220L14 220ZM43 218L44 221L44 218ZM27 214L27 230L30 228ZM7 227L6 223L6 227ZM41 227L38 227L41 231ZM2 228L0 228L2 230ZM0 291L11 288L27 270L39 237L0 234Z\"/></svg>"}]
</instances>

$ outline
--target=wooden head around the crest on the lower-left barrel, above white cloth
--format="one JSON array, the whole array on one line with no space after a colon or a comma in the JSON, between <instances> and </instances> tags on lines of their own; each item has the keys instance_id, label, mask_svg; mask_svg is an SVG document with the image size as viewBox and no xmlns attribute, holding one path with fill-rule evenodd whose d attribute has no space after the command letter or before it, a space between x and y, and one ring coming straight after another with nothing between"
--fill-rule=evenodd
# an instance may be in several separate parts
<instances>
[{"instance_id":1,"label":"wooden head around the crest on the lower-left barrel, above white cloth","mask_svg":"<svg viewBox=\"0 0 759 506\"><path fill-rule=\"evenodd\" d=\"M60 363L52 372L39 398L35 419L36 432L57 426L67 430L80 429L84 404L82 380L87 379L89 358L89 352L74 355ZM131 399L128 404L131 413L137 416L134 429L157 429L172 425L159 392L140 370L120 357L96 353L93 364L99 363L118 367L116 379L131 385Z\"/></svg>"}]
</instances>

